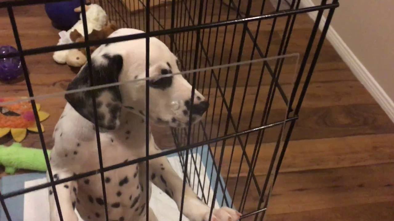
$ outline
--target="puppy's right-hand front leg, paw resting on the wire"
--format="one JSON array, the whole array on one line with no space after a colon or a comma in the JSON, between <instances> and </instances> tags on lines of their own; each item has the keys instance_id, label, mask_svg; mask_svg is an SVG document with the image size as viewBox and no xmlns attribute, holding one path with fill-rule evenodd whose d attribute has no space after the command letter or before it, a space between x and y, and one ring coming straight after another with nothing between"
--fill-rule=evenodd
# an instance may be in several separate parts
<instances>
[{"instance_id":1,"label":"puppy's right-hand front leg, paw resting on the wire","mask_svg":"<svg viewBox=\"0 0 394 221\"><path fill-rule=\"evenodd\" d=\"M175 173L166 157L149 160L151 181L171 197L180 209L183 180ZM208 221L210 208L186 184L183 214L191 221ZM236 221L241 214L231 208L214 209L212 220Z\"/></svg>"}]
</instances>

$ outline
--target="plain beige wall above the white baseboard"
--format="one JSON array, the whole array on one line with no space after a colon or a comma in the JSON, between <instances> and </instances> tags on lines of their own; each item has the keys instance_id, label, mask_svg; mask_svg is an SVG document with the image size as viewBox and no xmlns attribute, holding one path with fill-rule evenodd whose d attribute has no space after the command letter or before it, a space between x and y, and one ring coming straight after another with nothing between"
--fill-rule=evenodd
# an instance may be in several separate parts
<instances>
[{"instance_id":1,"label":"plain beige wall above the white baseboard","mask_svg":"<svg viewBox=\"0 0 394 221\"><path fill-rule=\"evenodd\" d=\"M339 0L339 4L332 27L394 101L394 0Z\"/></svg>"}]
</instances>

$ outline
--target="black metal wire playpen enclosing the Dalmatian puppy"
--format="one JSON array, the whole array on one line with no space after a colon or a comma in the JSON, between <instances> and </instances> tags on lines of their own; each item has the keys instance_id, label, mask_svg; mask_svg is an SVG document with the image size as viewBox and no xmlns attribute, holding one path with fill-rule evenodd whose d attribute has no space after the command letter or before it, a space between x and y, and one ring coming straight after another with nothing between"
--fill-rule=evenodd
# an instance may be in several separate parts
<instances>
[{"instance_id":1,"label":"black metal wire playpen enclosing the Dalmatian puppy","mask_svg":"<svg viewBox=\"0 0 394 221\"><path fill-rule=\"evenodd\" d=\"M185 185L190 185L204 203L211 206L211 213L217 203L240 211L243 214L241 219L263 220L331 18L339 6L338 0L322 0L321 4L314 7L301 7L301 0L93 0L91 3L102 6L119 27L141 29L145 33L22 49L13 9L46 2L57 1L0 2L1 8L7 8L18 49L18 53L0 56L18 55L21 58L30 96L28 100L33 107L51 180L29 188L0 193L0 202L7 219L14 220L7 209L7 199L11 197L98 173L105 191L104 172L165 155L177 155L182 167L183 189ZM327 16L320 33L319 25L325 11ZM313 26L308 27L306 47L289 52L292 31L299 25L297 16L314 12L317 14L316 20ZM84 13L82 7L86 29ZM167 129L167 140L174 147L172 149L155 155L148 153L146 157L121 164L103 166L98 142L100 166L97 170L54 180L35 104L36 100L49 97L34 97L28 74L30 67L24 57L85 47L87 65L91 66L89 46L149 37L160 39L177 55L181 74L192 85L192 91L197 89L209 101L208 112L195 125L189 123L185 128ZM146 77L144 80L149 83L148 71ZM154 108L149 107L149 102L146 103L147 110ZM149 122L148 114L145 121ZM56 192L54 194L58 201ZM60 210L58 202L57 206ZM106 204L105 212L108 220Z\"/></svg>"}]
</instances>

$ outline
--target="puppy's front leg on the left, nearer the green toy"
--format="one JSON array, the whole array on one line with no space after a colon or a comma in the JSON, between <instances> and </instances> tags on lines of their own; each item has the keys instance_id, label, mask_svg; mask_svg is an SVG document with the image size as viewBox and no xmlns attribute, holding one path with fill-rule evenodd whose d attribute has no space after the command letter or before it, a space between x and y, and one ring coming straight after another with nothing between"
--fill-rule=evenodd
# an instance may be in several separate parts
<instances>
[{"instance_id":1,"label":"puppy's front leg on the left, nearer the green toy","mask_svg":"<svg viewBox=\"0 0 394 221\"><path fill-rule=\"evenodd\" d=\"M73 173L69 171L66 171L64 169L57 169L54 167L52 167L52 174L54 180L71 177L73 175ZM49 182L48 173L46 174L46 179ZM48 189L49 189L50 221L58 221L60 220L60 217L58 213L58 208L56 207L56 201L53 194L53 190L52 187L48 187ZM78 221L78 217L74 212L77 191L78 191L78 185L76 181L69 181L56 185L56 192L58 193L60 210L64 221Z\"/></svg>"}]
</instances>

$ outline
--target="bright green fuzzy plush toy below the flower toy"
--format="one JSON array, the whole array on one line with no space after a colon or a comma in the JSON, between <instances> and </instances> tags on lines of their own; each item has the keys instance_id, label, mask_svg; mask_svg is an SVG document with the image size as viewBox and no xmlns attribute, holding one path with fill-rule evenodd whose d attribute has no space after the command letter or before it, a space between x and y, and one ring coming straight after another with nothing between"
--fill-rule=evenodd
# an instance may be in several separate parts
<instances>
[{"instance_id":1,"label":"bright green fuzzy plush toy below the flower toy","mask_svg":"<svg viewBox=\"0 0 394 221\"><path fill-rule=\"evenodd\" d=\"M48 151L48 155L50 151ZM22 147L20 143L13 143L6 147L0 145L0 165L6 168L6 173L14 174L17 169L46 171L44 153L41 149Z\"/></svg>"}]
</instances>

